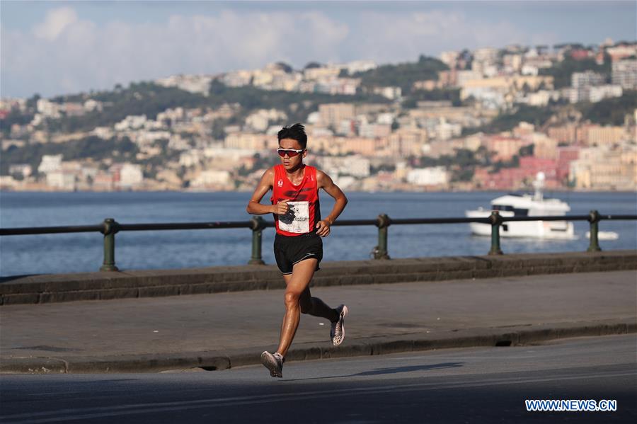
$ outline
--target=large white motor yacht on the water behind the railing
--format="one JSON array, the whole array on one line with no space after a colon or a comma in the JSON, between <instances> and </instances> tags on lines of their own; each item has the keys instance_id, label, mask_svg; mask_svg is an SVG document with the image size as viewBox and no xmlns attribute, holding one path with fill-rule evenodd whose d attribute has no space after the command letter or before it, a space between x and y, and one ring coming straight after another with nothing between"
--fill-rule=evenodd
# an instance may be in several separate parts
<instances>
[{"instance_id":1,"label":"large white motor yacht on the water behind the railing","mask_svg":"<svg viewBox=\"0 0 637 424\"><path fill-rule=\"evenodd\" d=\"M533 195L509 194L491 200L491 209L478 208L464 212L469 218L489 217L497 210L502 217L561 217L570 211L568 203L559 199L545 199L543 194L544 173L537 173L533 182ZM491 225L471 222L471 232L478 236L490 236ZM534 239L577 239L573 222L568 221L509 221L500 228L501 237L529 237Z\"/></svg>"}]
</instances>

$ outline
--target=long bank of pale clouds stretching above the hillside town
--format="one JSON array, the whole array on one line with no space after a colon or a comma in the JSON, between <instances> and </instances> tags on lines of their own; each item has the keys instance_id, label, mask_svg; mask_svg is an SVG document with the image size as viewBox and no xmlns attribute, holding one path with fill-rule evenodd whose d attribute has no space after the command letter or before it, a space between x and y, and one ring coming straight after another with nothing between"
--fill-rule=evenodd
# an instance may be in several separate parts
<instances>
[{"instance_id":1,"label":"long bank of pale clouds stretching above the hillside town","mask_svg":"<svg viewBox=\"0 0 637 424\"><path fill-rule=\"evenodd\" d=\"M550 42L552 35L534 35ZM322 11L175 14L161 22L94 23L56 8L32 30L0 28L2 96L54 96L112 88L171 74L215 74L284 61L379 63L463 47L531 42L506 21L471 21L458 12Z\"/></svg>"}]
</instances>

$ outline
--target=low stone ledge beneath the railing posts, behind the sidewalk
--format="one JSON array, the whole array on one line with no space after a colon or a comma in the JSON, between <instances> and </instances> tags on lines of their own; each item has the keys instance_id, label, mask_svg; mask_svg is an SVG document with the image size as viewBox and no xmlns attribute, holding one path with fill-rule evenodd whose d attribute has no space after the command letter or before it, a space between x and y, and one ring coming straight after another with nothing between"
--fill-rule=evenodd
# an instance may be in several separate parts
<instances>
[{"instance_id":1,"label":"low stone ledge beneath the railing posts, behind the sidewalk","mask_svg":"<svg viewBox=\"0 0 637 424\"><path fill-rule=\"evenodd\" d=\"M515 253L321 264L312 287L637 270L637 251ZM0 277L0 306L275 290L275 265Z\"/></svg>"}]
</instances>

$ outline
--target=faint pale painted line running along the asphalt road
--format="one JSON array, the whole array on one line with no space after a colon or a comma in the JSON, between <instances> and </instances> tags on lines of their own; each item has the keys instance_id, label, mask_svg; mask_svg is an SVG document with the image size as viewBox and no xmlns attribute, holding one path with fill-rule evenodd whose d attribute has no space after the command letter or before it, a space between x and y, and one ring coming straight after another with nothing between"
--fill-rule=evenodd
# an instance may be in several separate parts
<instances>
[{"instance_id":1,"label":"faint pale painted line running along the asphalt road","mask_svg":"<svg viewBox=\"0 0 637 424\"><path fill-rule=\"evenodd\" d=\"M18 413L7 415L3 417L4 423L12 424L36 424L36 423L56 423L60 421L70 420L84 420L88 418L105 418L113 416L127 416L143 413L156 413L166 411L185 411L188 409L206 408L206 407L224 407L224 406L239 406L253 403L268 403L276 401L289 401L289 400L305 400L305 399L323 399L331 398L334 396L357 396L357 395L369 395L369 394L384 394L391 392L401 391L415 391L415 390L440 390L440 389L456 389L464 387L483 387L483 386L498 386L503 384L525 384L525 383L539 383L539 382L552 382L552 381L565 381L565 380L577 380L577 379L593 379L593 378L611 378L611 377L628 377L637 375L637 370L630 372L612 372L607 374L583 374L578 376L553 376L544 378L531 378L531 379L517 379L517 378L505 378L505 379L491 379L483 382L472 383L418 383L418 384L404 384L394 386L383 387L362 387L359 389L335 389L335 390L321 390L321 391L305 391L296 393L285 394L266 394L266 395L253 395L253 396L233 396L224 399L200 399L196 401L173 401L173 402L158 402L158 403L133 403L130 405L122 406L101 406L95 408L70 408L60 409L58 411L47 411L37 413ZM104 412L100 412L104 411ZM67 414L67 415L64 415ZM50 417L46 417L50 416ZM11 419L18 419L17 421L7 421ZM22 420L21 420L22 419Z\"/></svg>"}]
</instances>

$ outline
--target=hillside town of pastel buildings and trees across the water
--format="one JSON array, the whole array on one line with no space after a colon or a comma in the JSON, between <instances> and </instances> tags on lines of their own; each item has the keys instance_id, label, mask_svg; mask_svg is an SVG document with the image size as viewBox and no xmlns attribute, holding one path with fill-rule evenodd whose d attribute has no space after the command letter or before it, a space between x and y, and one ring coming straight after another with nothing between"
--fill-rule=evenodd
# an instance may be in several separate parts
<instances>
[{"instance_id":1,"label":"hillside town of pastel buildings and trees across the water","mask_svg":"<svg viewBox=\"0 0 637 424\"><path fill-rule=\"evenodd\" d=\"M144 113L161 90L187 101ZM636 190L636 93L637 42L607 40L3 98L0 188L252 190L277 163L277 131L299 121L309 164L344 190L525 190L540 171L553 190ZM137 112L118 116L122 99Z\"/></svg>"}]
</instances>

